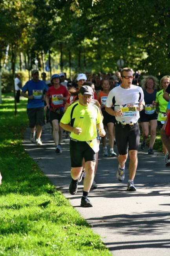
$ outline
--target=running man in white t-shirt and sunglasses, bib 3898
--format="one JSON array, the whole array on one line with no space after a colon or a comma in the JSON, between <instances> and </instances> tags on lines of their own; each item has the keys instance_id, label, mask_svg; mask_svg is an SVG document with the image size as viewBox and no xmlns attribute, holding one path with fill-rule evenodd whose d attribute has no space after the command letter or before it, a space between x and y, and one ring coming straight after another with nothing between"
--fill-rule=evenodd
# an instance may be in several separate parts
<instances>
[{"instance_id":1,"label":"running man in white t-shirt and sunglasses, bib 3898","mask_svg":"<svg viewBox=\"0 0 170 256\"><path fill-rule=\"evenodd\" d=\"M115 138L119 151L117 179L124 180L125 163L129 147L128 191L135 191L133 184L137 169L137 150L139 147L139 111L144 107L144 94L141 87L132 85L133 73L130 68L121 70L121 85L113 88L106 101L106 111L116 118ZM112 109L114 106L114 110Z\"/></svg>"}]
</instances>

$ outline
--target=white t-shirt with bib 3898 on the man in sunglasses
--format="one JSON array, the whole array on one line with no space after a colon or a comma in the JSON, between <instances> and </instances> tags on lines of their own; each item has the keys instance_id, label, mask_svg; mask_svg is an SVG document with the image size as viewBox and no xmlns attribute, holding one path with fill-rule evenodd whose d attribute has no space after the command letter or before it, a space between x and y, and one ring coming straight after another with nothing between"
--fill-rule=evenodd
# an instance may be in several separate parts
<instances>
[{"instance_id":1,"label":"white t-shirt with bib 3898 on the man in sunglasses","mask_svg":"<svg viewBox=\"0 0 170 256\"><path fill-rule=\"evenodd\" d=\"M106 107L111 108L114 105L115 111L117 109L122 110L123 116L115 117L117 121L122 122L124 120L126 124L129 124L131 121L136 123L140 117L139 111L136 108L143 99L144 94L141 87L132 84L130 88L124 89L118 86L113 88L108 94Z\"/></svg>"}]
</instances>

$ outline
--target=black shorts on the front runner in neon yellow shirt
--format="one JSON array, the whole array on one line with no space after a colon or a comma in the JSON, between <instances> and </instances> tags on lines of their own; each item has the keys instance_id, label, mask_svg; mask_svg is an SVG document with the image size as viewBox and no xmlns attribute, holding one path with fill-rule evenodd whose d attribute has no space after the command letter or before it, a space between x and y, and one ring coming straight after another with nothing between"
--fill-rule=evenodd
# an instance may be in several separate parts
<instances>
[{"instance_id":1,"label":"black shorts on the front runner in neon yellow shirt","mask_svg":"<svg viewBox=\"0 0 170 256\"><path fill-rule=\"evenodd\" d=\"M87 161L96 161L96 153L86 143L86 141L72 141L70 139L70 158L71 167L82 167L82 160L84 158Z\"/></svg>"}]
</instances>

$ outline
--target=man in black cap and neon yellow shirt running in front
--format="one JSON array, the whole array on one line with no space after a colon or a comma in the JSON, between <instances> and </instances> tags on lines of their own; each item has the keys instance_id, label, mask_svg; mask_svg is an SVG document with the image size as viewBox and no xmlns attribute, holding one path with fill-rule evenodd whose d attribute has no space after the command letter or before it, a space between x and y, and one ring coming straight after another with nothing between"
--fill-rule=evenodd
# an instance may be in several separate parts
<instances>
[{"instance_id":1,"label":"man in black cap and neon yellow shirt running in front","mask_svg":"<svg viewBox=\"0 0 170 256\"><path fill-rule=\"evenodd\" d=\"M64 113L60 126L71 132L70 134L70 157L71 157L71 195L77 193L79 176L82 172L82 160L85 160L86 176L81 206L92 207L88 199L91 184L94 179L96 153L99 151L97 143L97 129L101 137L105 136L102 117L99 108L90 104L93 97L93 89L84 85L79 90L79 102L68 107Z\"/></svg>"}]
</instances>

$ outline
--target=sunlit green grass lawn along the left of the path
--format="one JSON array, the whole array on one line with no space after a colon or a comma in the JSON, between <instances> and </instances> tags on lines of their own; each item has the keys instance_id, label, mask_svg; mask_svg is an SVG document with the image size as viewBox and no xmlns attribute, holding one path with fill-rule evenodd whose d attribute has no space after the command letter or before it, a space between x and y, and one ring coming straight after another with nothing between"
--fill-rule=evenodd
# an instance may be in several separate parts
<instances>
[{"instance_id":1,"label":"sunlit green grass lawn along the left of the path","mask_svg":"<svg viewBox=\"0 0 170 256\"><path fill-rule=\"evenodd\" d=\"M112 255L22 146L26 100L0 105L0 256Z\"/></svg>"}]
</instances>

